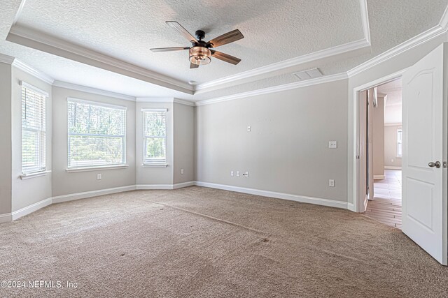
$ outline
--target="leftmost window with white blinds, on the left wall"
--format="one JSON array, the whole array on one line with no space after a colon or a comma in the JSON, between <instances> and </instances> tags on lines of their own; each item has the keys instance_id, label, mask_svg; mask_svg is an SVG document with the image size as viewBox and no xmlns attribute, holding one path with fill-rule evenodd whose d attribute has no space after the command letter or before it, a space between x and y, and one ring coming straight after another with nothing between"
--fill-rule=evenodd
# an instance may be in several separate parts
<instances>
[{"instance_id":1,"label":"leftmost window with white blinds, on the left wall","mask_svg":"<svg viewBox=\"0 0 448 298\"><path fill-rule=\"evenodd\" d=\"M45 100L48 94L22 85L22 174L45 171Z\"/></svg>"}]
</instances>

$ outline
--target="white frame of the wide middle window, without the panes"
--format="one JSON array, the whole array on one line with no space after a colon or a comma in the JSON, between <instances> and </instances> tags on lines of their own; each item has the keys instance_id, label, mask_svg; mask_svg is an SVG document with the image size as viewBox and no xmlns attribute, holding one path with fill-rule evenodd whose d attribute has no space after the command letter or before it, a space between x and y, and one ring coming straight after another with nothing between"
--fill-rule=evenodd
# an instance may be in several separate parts
<instances>
[{"instance_id":1,"label":"white frame of the wide middle window, without the panes","mask_svg":"<svg viewBox=\"0 0 448 298\"><path fill-rule=\"evenodd\" d=\"M69 117L71 117L71 115L69 114L69 103L83 103L83 104L87 104L87 105L92 105L94 107L107 107L107 108L112 108L112 109L116 109L116 110L124 110L125 112L125 119L124 119L124 134L123 135L103 135L103 134L85 134L85 133L70 133L70 128L69 128ZM85 99L80 99L80 98L73 98L73 97L67 97L67 168L66 168L66 172L85 172L85 171L89 171L89 170L107 170L107 169L124 169L127 168L128 165L126 163L127 161L127 154L126 154L126 139L127 139L127 107L123 106L123 105L113 105L110 103L102 103L99 101L94 101L94 100L85 100ZM122 138L122 150L123 150L123 158L122 161L120 163L107 163L104 165L78 165L78 166L73 166L70 165L70 136L73 135L78 135L78 136L90 136L90 137L121 137Z\"/></svg>"}]
</instances>

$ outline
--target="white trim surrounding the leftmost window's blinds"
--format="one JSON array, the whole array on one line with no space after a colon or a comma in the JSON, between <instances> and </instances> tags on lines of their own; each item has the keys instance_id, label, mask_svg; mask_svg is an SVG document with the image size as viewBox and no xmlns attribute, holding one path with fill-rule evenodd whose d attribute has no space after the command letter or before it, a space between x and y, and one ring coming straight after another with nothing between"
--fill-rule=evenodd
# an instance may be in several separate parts
<instances>
[{"instance_id":1,"label":"white trim surrounding the leftmost window's blinds","mask_svg":"<svg viewBox=\"0 0 448 298\"><path fill-rule=\"evenodd\" d=\"M28 131L36 131L36 132L41 132L41 133L43 132L44 135L45 135L43 143L41 144L42 147L39 148L39 149L43 149L43 152L41 152L41 154L42 154L41 157L43 157L43 161L44 161L43 165L44 166L41 167L40 169L37 169L37 170L36 169L29 169L28 172L25 172L24 169L23 169L23 157L22 157L21 158L22 160L20 161L21 167L22 167L21 168L20 179L28 179L28 178L32 178L32 177L43 176L43 175L47 174L48 172L51 172L51 171L47 170L47 164L46 164L47 163L47 100L50 97L50 95L48 94L47 91L39 89L38 87L34 87L33 85L28 84L27 82L22 81L22 80L19 81L19 85L20 85L20 105L21 105L20 112L21 113L22 113L22 105L23 105L23 99L22 98L23 98L23 89L24 88L25 89L29 89L30 91L33 91L34 93L36 93L39 96L42 96L44 98L43 108L45 109L45 115L43 115L43 122L45 122L45 126L43 126L43 131L36 130L36 129L31 129L31 128L28 129ZM25 100L26 100L26 98L25 98ZM21 123L20 123L20 140L21 140L20 141L20 154L22 156L22 154L23 154L23 147L22 147L23 140L22 140L22 137L23 137L23 131L24 131L23 123L22 123L22 116L20 117L20 121L21 121Z\"/></svg>"}]
</instances>

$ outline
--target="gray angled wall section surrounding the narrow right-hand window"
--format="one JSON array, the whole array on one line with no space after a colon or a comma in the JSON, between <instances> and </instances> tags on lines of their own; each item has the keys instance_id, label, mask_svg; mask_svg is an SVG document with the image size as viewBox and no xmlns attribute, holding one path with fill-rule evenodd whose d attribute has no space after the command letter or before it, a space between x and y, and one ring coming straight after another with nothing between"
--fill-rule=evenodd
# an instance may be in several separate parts
<instances>
[{"instance_id":1,"label":"gray angled wall section surrounding the narrow right-hand window","mask_svg":"<svg viewBox=\"0 0 448 298\"><path fill-rule=\"evenodd\" d=\"M143 112L141 109L167 109L167 167L143 167ZM174 137L173 137L173 103L137 102L135 111L135 156L136 184L173 184Z\"/></svg>"}]
</instances>

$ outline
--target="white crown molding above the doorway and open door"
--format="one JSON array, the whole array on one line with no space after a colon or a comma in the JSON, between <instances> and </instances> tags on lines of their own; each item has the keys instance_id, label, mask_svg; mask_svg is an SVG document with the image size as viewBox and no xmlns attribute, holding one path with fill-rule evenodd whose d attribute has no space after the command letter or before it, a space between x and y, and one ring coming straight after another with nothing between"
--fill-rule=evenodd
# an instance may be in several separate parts
<instances>
[{"instance_id":1,"label":"white crown molding above the doorway and open door","mask_svg":"<svg viewBox=\"0 0 448 298\"><path fill-rule=\"evenodd\" d=\"M358 75L358 73L362 73L367 69L377 66L378 64L381 64L382 62L387 61L389 59L392 59L393 57L398 56L403 52L411 50L412 48L417 47L423 43L427 43L429 40L432 40L433 38L437 38L437 36L441 36L442 34L447 33L447 31L448 31L448 6L447 8L445 8L442 18L439 24L437 24L437 26L424 31L423 33L420 33L419 35L414 36L413 38L406 40L404 43L400 43L400 45L397 45L391 48L390 50L387 50L386 52L379 54L377 57L365 61L363 64L360 64L355 68L352 68L351 70L347 71L347 75L349 75L349 77L353 77L353 75Z\"/></svg>"}]
</instances>

